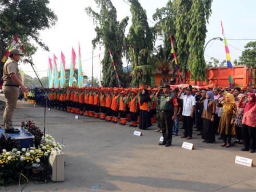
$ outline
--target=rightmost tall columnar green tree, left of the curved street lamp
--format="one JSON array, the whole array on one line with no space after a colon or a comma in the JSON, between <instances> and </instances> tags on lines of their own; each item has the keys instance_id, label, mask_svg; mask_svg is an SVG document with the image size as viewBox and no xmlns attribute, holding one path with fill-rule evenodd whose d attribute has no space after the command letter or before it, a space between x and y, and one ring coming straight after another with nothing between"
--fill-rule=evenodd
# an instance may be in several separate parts
<instances>
[{"instance_id":1,"label":"rightmost tall columnar green tree, left of the curved street lamp","mask_svg":"<svg viewBox=\"0 0 256 192\"><path fill-rule=\"evenodd\" d=\"M187 64L191 72L190 78L203 81L206 79L206 63L203 55L203 47L206 38L206 22L211 14L212 0L194 0L187 18L190 20L191 28L187 35L187 43L189 44L189 58Z\"/></svg>"}]
</instances>

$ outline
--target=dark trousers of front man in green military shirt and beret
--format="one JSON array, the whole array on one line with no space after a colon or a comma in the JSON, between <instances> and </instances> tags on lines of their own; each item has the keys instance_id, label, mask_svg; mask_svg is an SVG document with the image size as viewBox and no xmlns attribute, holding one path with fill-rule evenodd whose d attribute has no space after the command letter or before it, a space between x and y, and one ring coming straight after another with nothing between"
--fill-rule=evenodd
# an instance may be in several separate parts
<instances>
[{"instance_id":1,"label":"dark trousers of front man in green military shirt and beret","mask_svg":"<svg viewBox=\"0 0 256 192\"><path fill-rule=\"evenodd\" d=\"M173 139L173 113L171 111L161 112L160 121L163 134L163 142L171 144Z\"/></svg>"}]
</instances>

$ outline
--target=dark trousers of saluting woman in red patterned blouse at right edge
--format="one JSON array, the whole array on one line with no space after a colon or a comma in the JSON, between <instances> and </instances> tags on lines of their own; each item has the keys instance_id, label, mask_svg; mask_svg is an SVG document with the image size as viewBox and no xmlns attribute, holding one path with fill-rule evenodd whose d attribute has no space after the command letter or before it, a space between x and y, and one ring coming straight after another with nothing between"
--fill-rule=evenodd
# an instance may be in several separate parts
<instances>
[{"instance_id":1,"label":"dark trousers of saluting woman in red patterned blouse at right edge","mask_svg":"<svg viewBox=\"0 0 256 192\"><path fill-rule=\"evenodd\" d=\"M246 149L255 150L256 147L256 128L243 124L243 145Z\"/></svg>"}]
</instances>

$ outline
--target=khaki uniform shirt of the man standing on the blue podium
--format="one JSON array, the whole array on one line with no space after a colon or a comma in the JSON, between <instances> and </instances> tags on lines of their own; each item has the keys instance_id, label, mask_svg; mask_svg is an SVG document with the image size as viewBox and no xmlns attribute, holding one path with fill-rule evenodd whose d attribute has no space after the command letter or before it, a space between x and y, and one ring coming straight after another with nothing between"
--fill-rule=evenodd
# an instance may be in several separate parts
<instances>
[{"instance_id":1,"label":"khaki uniform shirt of the man standing on the blue podium","mask_svg":"<svg viewBox=\"0 0 256 192\"><path fill-rule=\"evenodd\" d=\"M13 79L11 79L10 74L15 73L22 82L21 73L19 73L18 62L13 58L7 59L5 65L3 66L3 84L4 85L17 85Z\"/></svg>"}]
</instances>

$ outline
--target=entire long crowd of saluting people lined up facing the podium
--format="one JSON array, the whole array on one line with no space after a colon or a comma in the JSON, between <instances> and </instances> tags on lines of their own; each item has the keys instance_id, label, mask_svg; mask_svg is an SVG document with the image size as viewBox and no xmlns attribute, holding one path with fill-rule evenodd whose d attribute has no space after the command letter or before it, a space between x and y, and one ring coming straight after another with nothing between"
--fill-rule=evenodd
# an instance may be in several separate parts
<instances>
[{"instance_id":1,"label":"entire long crowd of saluting people lined up facing the podium","mask_svg":"<svg viewBox=\"0 0 256 192\"><path fill-rule=\"evenodd\" d=\"M202 142L213 143L215 136L222 139L222 147L243 144L242 151L255 152L256 147L256 88L187 87L134 88L131 87L67 87L46 89L45 102L42 89L29 89L26 97L36 105L94 117L107 122L147 129L157 123L156 130L163 134L159 145L171 146L172 138L192 139L193 125ZM182 119L183 127L179 128Z\"/></svg>"}]
</instances>

